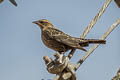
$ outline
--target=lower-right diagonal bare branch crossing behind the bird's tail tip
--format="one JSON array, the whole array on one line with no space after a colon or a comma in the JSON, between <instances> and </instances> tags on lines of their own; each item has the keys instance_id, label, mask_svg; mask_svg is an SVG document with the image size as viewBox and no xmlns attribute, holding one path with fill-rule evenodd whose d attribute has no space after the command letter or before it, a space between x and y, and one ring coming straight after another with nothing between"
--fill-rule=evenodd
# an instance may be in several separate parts
<instances>
[{"instance_id":1,"label":"lower-right diagonal bare branch crossing behind the bird's tail tip","mask_svg":"<svg viewBox=\"0 0 120 80\"><path fill-rule=\"evenodd\" d=\"M101 39L106 39L106 37L120 24L120 18L103 34ZM100 44L94 44L92 48L89 49L89 51L86 53L85 56L80 59L75 67L75 70L77 70L80 65L87 59L87 57L92 54L92 52L99 46Z\"/></svg>"}]
</instances>

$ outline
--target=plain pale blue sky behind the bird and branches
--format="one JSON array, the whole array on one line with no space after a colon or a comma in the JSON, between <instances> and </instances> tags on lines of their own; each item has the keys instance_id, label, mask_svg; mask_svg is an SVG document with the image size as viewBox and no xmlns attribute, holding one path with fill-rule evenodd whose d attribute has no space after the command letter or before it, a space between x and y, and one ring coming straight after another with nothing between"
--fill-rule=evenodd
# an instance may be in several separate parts
<instances>
[{"instance_id":1,"label":"plain pale blue sky behind the bird and branches","mask_svg":"<svg viewBox=\"0 0 120 80\"><path fill-rule=\"evenodd\" d=\"M79 37L106 0L8 0L0 4L0 80L53 79L43 56L55 51L45 47L41 31L32 21L50 20L56 28ZM86 38L98 39L120 18L120 8L111 2ZM111 80L120 67L120 25L77 71L77 80ZM92 45L90 45L91 47ZM90 48L89 47L89 48ZM89 49L87 48L87 50ZM85 52L77 50L75 64Z\"/></svg>"}]
</instances>

